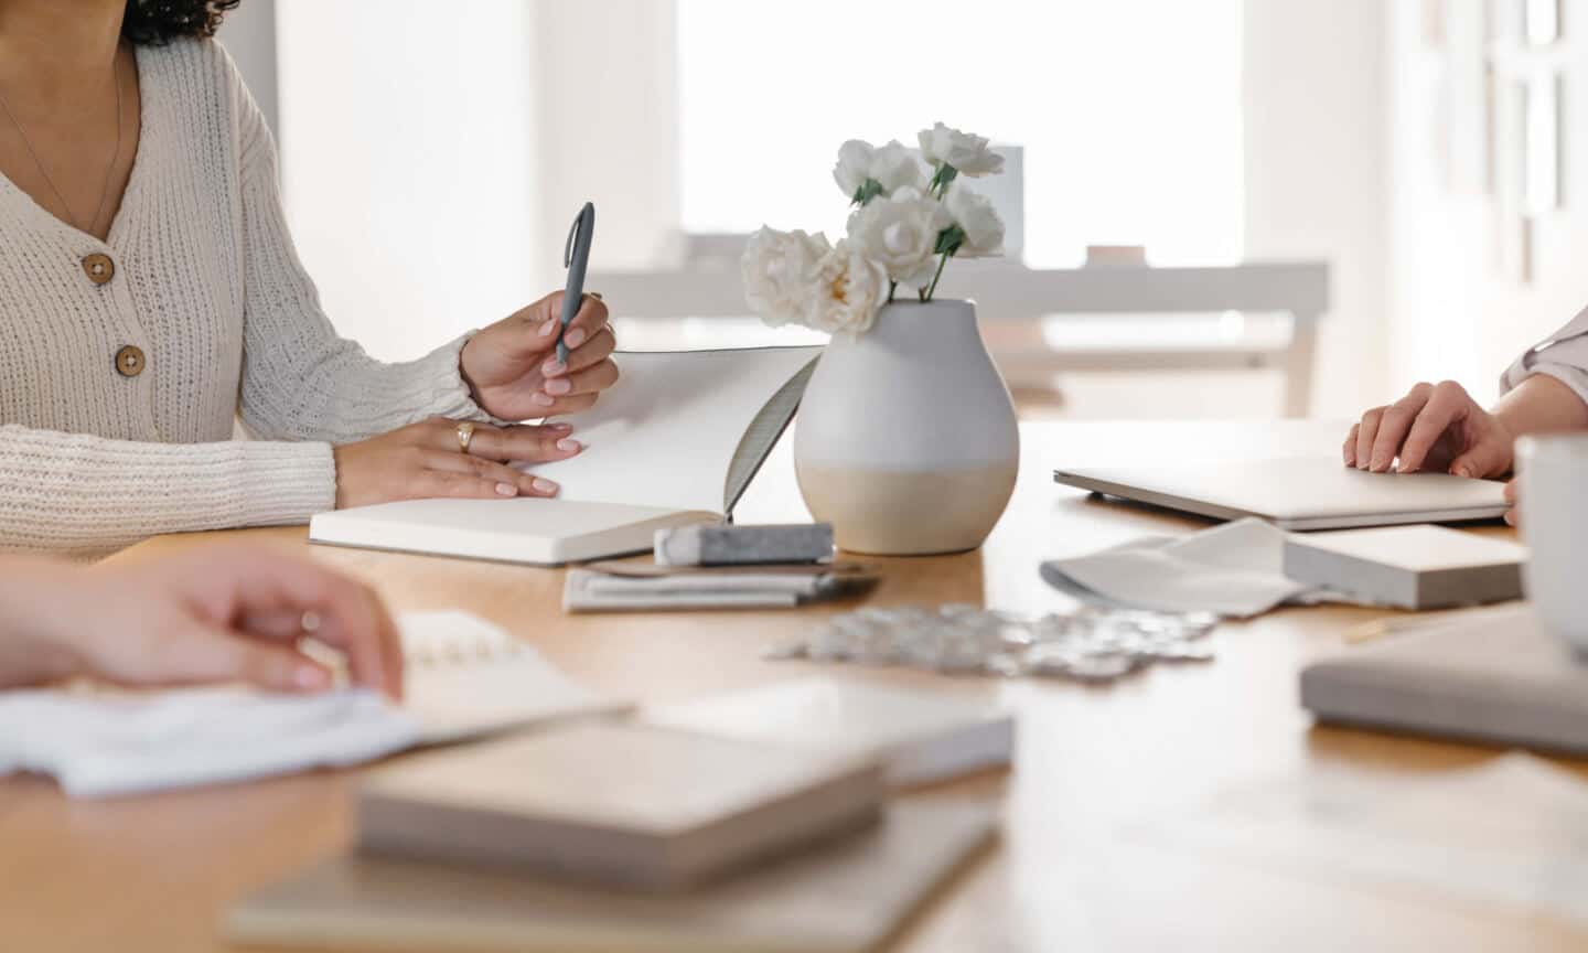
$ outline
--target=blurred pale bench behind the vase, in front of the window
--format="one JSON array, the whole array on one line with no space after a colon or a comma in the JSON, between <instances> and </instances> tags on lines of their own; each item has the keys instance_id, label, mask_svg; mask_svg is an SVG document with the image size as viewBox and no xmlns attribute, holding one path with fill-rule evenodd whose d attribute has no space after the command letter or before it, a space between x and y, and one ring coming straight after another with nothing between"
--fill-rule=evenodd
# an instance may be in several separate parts
<instances>
[{"instance_id":1,"label":"blurred pale bench behind the vase, in front of the window","mask_svg":"<svg viewBox=\"0 0 1588 953\"><path fill-rule=\"evenodd\" d=\"M622 346L807 343L791 337L797 330L756 334L743 321L737 259L718 254L676 270L592 273L586 287L602 292L621 321ZM1285 373L1282 410L1302 418L1318 321L1329 308L1329 265L1027 268L964 260L943 273L939 295L977 302L988 349L1016 389L1073 370L1277 367Z\"/></svg>"}]
</instances>

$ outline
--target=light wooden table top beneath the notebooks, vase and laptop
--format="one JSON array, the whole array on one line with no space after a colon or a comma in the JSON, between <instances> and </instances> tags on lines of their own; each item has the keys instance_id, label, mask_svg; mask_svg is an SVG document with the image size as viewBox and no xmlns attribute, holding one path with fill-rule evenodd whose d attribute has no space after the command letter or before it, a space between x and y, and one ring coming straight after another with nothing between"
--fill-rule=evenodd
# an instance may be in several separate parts
<instances>
[{"instance_id":1,"label":"light wooden table top beneath the notebooks, vase and laptop","mask_svg":"<svg viewBox=\"0 0 1588 953\"><path fill-rule=\"evenodd\" d=\"M1048 612L1069 602L1037 577L1040 559L1205 526L1059 488L1051 481L1056 465L1334 453L1342 437L1342 426L1310 421L1026 424L1019 486L986 546L870 561L885 575L870 604ZM805 518L786 446L757 478L740 516ZM1243 780L1305 769L1393 781L1494 758L1494 750L1478 747L1315 727L1299 708L1301 666L1339 650L1347 627L1383 612L1288 608L1224 624L1213 637L1212 664L1159 667L1088 688L764 661L769 645L804 632L815 616L853 605L564 616L559 570L310 548L300 527L165 537L118 559L216 535L310 553L370 580L397 610L475 612L535 643L573 677L642 702L819 672L1010 704L1021 720L1016 769L919 794L1002 797L1002 840L916 918L900 950L1588 945L1588 932L1499 905L1375 891L1328 872L1264 870L1120 834L1143 818L1194 810ZM98 804L68 802L41 778L3 780L0 950L222 950L216 923L230 901L348 843L356 777L318 772Z\"/></svg>"}]
</instances>

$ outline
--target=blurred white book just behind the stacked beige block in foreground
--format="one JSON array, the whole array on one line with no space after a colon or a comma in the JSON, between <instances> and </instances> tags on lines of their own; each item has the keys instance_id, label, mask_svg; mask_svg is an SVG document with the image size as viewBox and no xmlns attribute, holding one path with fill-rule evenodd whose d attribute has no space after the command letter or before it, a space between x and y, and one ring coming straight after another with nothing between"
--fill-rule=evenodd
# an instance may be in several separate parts
<instances>
[{"instance_id":1,"label":"blurred white book just behind the stacked beige block in foreground","mask_svg":"<svg viewBox=\"0 0 1588 953\"><path fill-rule=\"evenodd\" d=\"M880 758L892 786L1002 767L1015 751L1015 718L997 705L835 678L662 705L642 716L669 727Z\"/></svg>"}]
</instances>

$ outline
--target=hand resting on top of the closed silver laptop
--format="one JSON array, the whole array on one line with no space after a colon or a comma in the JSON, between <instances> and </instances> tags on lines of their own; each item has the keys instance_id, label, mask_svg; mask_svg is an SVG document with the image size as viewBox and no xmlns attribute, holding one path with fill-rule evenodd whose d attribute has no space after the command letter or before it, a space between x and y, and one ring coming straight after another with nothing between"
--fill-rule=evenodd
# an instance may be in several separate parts
<instances>
[{"instance_id":1,"label":"hand resting on top of the closed silver laptop","mask_svg":"<svg viewBox=\"0 0 1588 953\"><path fill-rule=\"evenodd\" d=\"M1461 384L1421 383L1388 407L1374 407L1345 437L1347 467L1386 473L1416 470L1456 476L1501 476L1510 472L1517 437L1496 413L1485 410ZM1399 457L1399 465L1396 459Z\"/></svg>"}]
</instances>

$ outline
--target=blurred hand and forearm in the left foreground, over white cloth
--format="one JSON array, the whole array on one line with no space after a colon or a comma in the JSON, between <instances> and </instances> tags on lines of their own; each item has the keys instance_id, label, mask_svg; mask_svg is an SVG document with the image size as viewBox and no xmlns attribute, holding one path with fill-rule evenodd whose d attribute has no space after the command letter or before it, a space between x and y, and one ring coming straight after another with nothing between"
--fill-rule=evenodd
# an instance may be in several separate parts
<instances>
[{"instance_id":1,"label":"blurred hand and forearm in the left foreground, over white cloth","mask_svg":"<svg viewBox=\"0 0 1588 953\"><path fill-rule=\"evenodd\" d=\"M268 550L211 546L130 565L0 558L0 688L91 677L127 686L245 681L321 691L310 635L354 685L402 696L395 624L367 586Z\"/></svg>"}]
</instances>

